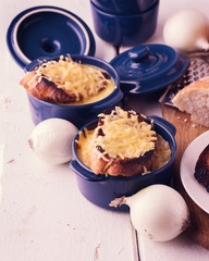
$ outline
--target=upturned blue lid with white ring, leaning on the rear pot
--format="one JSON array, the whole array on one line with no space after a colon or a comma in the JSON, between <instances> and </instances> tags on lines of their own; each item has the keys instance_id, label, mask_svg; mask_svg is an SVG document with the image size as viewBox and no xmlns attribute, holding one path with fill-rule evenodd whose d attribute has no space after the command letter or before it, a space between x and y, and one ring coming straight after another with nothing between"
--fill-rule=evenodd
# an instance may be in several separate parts
<instances>
[{"instance_id":1,"label":"upturned blue lid with white ring, leaning on the rear pot","mask_svg":"<svg viewBox=\"0 0 209 261\"><path fill-rule=\"evenodd\" d=\"M7 41L21 67L40 57L95 54L95 39L77 15L56 7L35 7L11 22Z\"/></svg>"}]
</instances>

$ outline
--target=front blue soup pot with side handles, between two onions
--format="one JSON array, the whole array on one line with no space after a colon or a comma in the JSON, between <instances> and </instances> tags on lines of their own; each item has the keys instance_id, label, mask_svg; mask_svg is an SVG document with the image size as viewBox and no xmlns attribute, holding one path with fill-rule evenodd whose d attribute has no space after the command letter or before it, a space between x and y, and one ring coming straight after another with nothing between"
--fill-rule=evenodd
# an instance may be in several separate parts
<instances>
[{"instance_id":1,"label":"front blue soup pot with side handles, between two onions","mask_svg":"<svg viewBox=\"0 0 209 261\"><path fill-rule=\"evenodd\" d=\"M77 157L76 140L79 138L79 133L75 136L73 142L73 160L70 163L70 167L76 174L77 185L81 192L91 203L103 209L127 211L127 206L122 206L115 209L109 207L109 203L115 198L132 196L138 190L152 184L170 184L176 154L176 144L174 139L175 127L168 121L158 116L149 116L148 120L153 120L155 130L169 142L171 159L161 169L146 175L115 177L94 174L93 171L88 169ZM97 120L82 127L81 132L85 128L94 129L96 125Z\"/></svg>"}]
</instances>

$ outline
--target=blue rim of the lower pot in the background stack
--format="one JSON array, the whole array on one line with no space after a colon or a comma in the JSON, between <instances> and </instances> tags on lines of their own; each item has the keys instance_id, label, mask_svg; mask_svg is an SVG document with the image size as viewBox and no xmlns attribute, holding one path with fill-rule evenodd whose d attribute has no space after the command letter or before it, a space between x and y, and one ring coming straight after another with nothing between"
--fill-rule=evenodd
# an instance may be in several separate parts
<instances>
[{"instance_id":1,"label":"blue rim of the lower pot in the background stack","mask_svg":"<svg viewBox=\"0 0 209 261\"><path fill-rule=\"evenodd\" d=\"M106 12L103 11L102 9L100 9L99 7L97 7L93 1L90 1L90 4L91 7L97 10L97 12L99 12L100 14L104 15L104 16L109 16L109 17L118 17L118 18L124 18L124 20L127 20L127 18L135 18L135 17L138 17L138 16L142 16L142 15L146 15L148 14L149 12L152 12L155 9L158 8L159 5L159 2L160 0L157 0L149 9L145 10L145 11L142 11L142 12L138 12L138 13L132 13L132 14L120 14L120 13L109 13L109 12Z\"/></svg>"}]
</instances>

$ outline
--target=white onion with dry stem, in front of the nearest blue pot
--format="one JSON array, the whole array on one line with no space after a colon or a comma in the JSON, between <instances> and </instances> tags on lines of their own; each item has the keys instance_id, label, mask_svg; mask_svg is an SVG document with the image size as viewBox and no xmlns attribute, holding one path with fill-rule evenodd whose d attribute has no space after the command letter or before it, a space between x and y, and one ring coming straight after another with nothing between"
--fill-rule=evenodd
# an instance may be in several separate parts
<instances>
[{"instance_id":1,"label":"white onion with dry stem, in front of the nearest blue pot","mask_svg":"<svg viewBox=\"0 0 209 261\"><path fill-rule=\"evenodd\" d=\"M139 235L155 241L168 241L187 226L189 211L183 197L165 185L151 185L132 197L113 200L110 206L130 207L131 221Z\"/></svg>"}]
</instances>

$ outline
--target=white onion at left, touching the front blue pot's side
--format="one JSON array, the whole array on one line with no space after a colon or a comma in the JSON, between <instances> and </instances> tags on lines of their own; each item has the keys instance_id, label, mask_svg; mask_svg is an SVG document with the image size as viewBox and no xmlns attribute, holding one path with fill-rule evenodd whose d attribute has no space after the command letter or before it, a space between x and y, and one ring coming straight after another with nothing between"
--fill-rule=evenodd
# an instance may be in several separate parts
<instances>
[{"instance_id":1,"label":"white onion at left, touching the front blue pot's side","mask_svg":"<svg viewBox=\"0 0 209 261\"><path fill-rule=\"evenodd\" d=\"M62 164L72 159L72 142L77 132L66 120L48 119L34 128L28 142L40 160Z\"/></svg>"}]
</instances>

